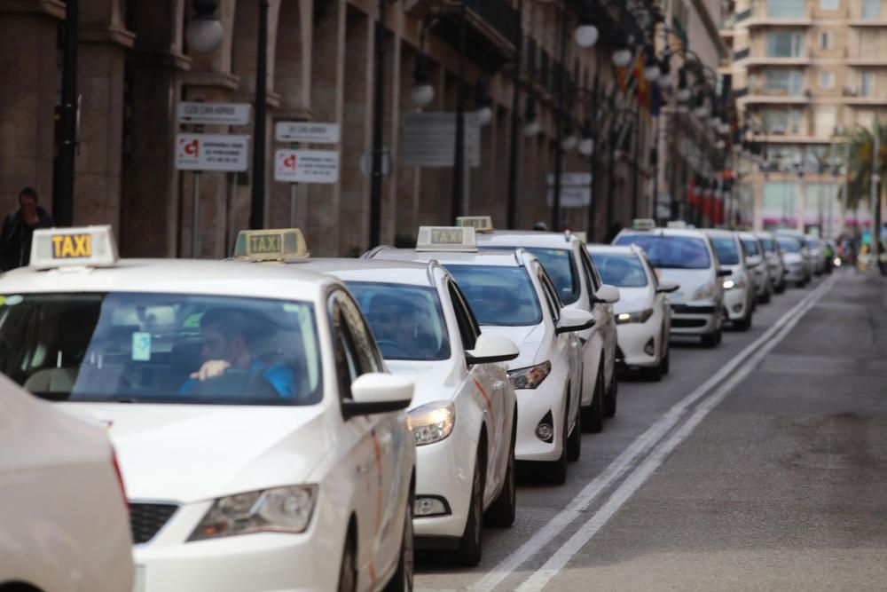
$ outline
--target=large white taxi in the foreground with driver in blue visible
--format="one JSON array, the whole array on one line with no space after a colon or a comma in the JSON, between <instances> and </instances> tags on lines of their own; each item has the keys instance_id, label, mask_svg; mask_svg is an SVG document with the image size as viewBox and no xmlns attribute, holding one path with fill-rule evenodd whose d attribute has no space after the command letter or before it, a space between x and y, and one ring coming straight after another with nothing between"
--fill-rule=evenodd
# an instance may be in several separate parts
<instances>
[{"instance_id":1,"label":"large white taxi in the foreground with driver in blue visible","mask_svg":"<svg viewBox=\"0 0 887 592\"><path fill-rule=\"evenodd\" d=\"M108 426L134 590L412 583L413 385L341 281L118 259L90 226L35 231L0 294L12 378Z\"/></svg>"}]
</instances>

